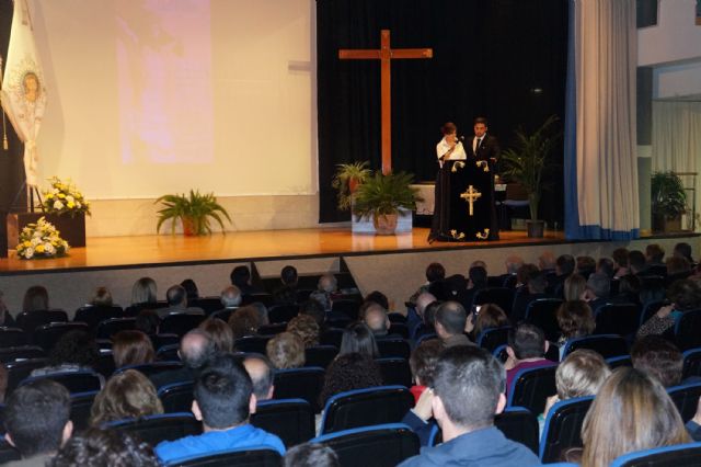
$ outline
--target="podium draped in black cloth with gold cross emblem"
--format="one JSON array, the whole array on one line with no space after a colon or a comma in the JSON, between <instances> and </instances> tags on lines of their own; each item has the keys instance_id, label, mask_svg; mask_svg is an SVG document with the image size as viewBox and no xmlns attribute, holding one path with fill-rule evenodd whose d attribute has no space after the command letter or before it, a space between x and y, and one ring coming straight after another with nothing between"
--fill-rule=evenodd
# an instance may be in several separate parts
<instances>
[{"instance_id":1,"label":"podium draped in black cloth with gold cross emblem","mask_svg":"<svg viewBox=\"0 0 701 467\"><path fill-rule=\"evenodd\" d=\"M449 160L438 171L429 241L498 240L494 172L486 160Z\"/></svg>"}]
</instances>

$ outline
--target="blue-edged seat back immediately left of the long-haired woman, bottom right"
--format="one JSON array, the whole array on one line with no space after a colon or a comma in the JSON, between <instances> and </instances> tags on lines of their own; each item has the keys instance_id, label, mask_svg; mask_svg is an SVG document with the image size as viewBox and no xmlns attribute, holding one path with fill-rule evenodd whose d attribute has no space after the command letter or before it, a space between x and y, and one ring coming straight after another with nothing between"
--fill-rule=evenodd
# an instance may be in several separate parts
<instances>
[{"instance_id":1,"label":"blue-edged seat back immediately left of the long-haired woman, bottom right","mask_svg":"<svg viewBox=\"0 0 701 467\"><path fill-rule=\"evenodd\" d=\"M545 415L540 440L540 462L555 463L570 447L582 447L582 424L594 397L577 397L555 403Z\"/></svg>"}]
</instances>

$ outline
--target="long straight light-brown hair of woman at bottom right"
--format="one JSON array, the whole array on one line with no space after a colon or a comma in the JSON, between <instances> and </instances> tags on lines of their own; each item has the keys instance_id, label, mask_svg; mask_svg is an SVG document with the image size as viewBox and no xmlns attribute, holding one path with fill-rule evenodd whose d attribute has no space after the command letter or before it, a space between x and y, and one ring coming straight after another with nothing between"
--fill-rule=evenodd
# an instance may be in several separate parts
<instances>
[{"instance_id":1,"label":"long straight light-brown hair of woman at bottom right","mask_svg":"<svg viewBox=\"0 0 701 467\"><path fill-rule=\"evenodd\" d=\"M604 383L584 419L582 440L583 467L691 441L665 388L631 367L617 368Z\"/></svg>"}]
</instances>

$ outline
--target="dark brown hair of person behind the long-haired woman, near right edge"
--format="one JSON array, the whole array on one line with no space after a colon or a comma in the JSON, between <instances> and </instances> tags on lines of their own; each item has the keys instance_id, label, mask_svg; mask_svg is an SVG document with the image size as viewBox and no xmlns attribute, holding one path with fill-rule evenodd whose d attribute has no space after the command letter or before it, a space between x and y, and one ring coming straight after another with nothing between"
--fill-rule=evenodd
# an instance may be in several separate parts
<instances>
[{"instance_id":1,"label":"dark brown hair of person behind the long-haired woman, near right edge","mask_svg":"<svg viewBox=\"0 0 701 467\"><path fill-rule=\"evenodd\" d=\"M683 355L679 349L659 335L646 335L631 348L633 367L656 378L664 387L681 383Z\"/></svg>"}]
</instances>

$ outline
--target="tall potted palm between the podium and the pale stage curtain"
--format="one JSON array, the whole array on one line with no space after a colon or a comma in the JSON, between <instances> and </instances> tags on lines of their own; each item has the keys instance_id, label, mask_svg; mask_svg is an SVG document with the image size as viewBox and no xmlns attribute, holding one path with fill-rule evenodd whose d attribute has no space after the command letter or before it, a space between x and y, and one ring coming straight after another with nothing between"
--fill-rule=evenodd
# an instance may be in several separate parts
<instances>
[{"instance_id":1,"label":"tall potted palm between the podium and the pale stage curtain","mask_svg":"<svg viewBox=\"0 0 701 467\"><path fill-rule=\"evenodd\" d=\"M552 153L561 136L554 127L558 121L556 115L551 115L530 135L519 127L516 130L516 146L502 152L504 175L519 183L528 193L531 220L538 219L542 190L549 187L543 179L555 167Z\"/></svg>"}]
</instances>

